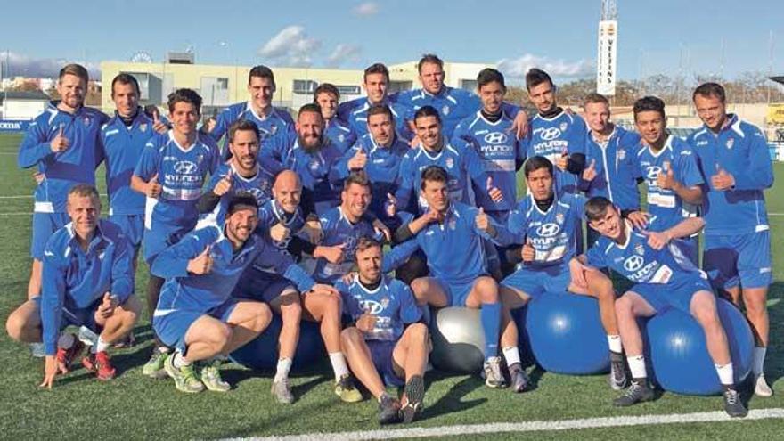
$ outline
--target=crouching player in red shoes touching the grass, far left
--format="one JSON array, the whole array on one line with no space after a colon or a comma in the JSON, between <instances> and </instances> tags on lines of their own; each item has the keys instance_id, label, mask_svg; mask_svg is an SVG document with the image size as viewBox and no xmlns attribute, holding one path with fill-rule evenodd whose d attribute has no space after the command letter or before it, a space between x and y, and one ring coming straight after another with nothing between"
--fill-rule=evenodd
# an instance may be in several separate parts
<instances>
[{"instance_id":1,"label":"crouching player in red shoes touching the grass, far left","mask_svg":"<svg viewBox=\"0 0 784 441\"><path fill-rule=\"evenodd\" d=\"M71 222L57 230L44 250L41 296L22 304L8 317L8 335L25 343L44 342L42 387L52 388L84 345L69 325L99 334L82 364L99 380L116 370L106 350L134 328L140 306L134 293L133 249L117 225L98 219L101 200L93 185L76 184L68 192Z\"/></svg>"}]
</instances>

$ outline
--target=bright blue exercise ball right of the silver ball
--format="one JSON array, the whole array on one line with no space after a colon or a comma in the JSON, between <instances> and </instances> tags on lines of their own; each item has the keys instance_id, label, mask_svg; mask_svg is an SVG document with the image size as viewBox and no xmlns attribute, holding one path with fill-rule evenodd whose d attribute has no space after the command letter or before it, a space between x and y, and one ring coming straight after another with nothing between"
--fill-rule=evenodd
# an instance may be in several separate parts
<instances>
[{"instance_id":1,"label":"bright blue exercise ball right of the silver ball","mask_svg":"<svg viewBox=\"0 0 784 441\"><path fill-rule=\"evenodd\" d=\"M529 347L545 371L570 375L608 372L607 332L601 326L595 298L547 292L533 298L525 309L515 314L522 340L519 347Z\"/></svg>"}]
</instances>

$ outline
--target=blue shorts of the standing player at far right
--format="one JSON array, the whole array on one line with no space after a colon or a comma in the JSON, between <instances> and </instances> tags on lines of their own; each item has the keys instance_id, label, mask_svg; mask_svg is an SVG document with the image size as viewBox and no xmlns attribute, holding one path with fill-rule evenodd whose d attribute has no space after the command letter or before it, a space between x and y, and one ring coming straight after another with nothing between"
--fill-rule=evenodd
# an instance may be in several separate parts
<instances>
[{"instance_id":1,"label":"blue shorts of the standing player at far right","mask_svg":"<svg viewBox=\"0 0 784 441\"><path fill-rule=\"evenodd\" d=\"M772 283L771 232L705 235L703 267L714 288L764 288Z\"/></svg>"}]
</instances>

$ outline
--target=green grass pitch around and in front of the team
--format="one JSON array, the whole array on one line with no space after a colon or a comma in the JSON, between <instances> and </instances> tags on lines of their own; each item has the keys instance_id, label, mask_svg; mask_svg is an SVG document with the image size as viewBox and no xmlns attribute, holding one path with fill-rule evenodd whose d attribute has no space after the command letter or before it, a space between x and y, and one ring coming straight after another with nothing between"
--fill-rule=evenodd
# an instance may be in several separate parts
<instances>
[{"instance_id":1,"label":"green grass pitch around and in front of the team","mask_svg":"<svg viewBox=\"0 0 784 441\"><path fill-rule=\"evenodd\" d=\"M34 183L29 170L16 166L19 135L0 135L0 320L5 323L12 309L24 300L29 277L29 234ZM779 177L768 192L768 208L784 213L784 164L775 165ZM102 172L99 174L102 176ZM102 177L99 187L104 192ZM8 198L22 196L20 198ZM104 206L105 208L105 206ZM766 364L776 395L751 398L751 409L784 407L784 216L771 216L774 278L769 300L772 346ZM779 234L777 234L779 233ZM144 287L147 268L140 265L137 286ZM140 295L143 300L143 295ZM27 347L0 333L0 438L61 437L100 439L222 438L296 435L314 432L379 429L376 404L342 404L331 390L326 363L308 372L295 372L292 388L298 401L276 404L270 396L270 372L252 372L241 366L225 366L225 379L235 388L224 395L178 393L170 380L150 380L141 367L151 348L147 317L136 330L137 346L113 352L119 376L102 383L83 369L58 378L51 391L37 388L42 379L39 359ZM274 348L270 348L274 350ZM617 409L604 376L573 377L533 372L536 388L523 395L509 390L485 388L476 377L429 373L425 411L415 424L438 427L487 422L551 421L625 415L710 412L721 410L719 397L665 394L652 403ZM501 433L498 439L750 439L784 435L782 421L684 423L633 428L579 429L526 434ZM487 439L488 435L465 436Z\"/></svg>"}]
</instances>

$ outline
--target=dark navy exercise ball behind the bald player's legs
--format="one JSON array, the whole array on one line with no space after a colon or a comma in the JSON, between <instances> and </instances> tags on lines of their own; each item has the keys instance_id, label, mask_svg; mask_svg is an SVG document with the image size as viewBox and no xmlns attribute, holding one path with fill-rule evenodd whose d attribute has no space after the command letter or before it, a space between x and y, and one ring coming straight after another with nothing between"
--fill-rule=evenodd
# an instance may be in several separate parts
<instances>
[{"instance_id":1,"label":"dark navy exercise ball behind the bald player's legs","mask_svg":"<svg viewBox=\"0 0 784 441\"><path fill-rule=\"evenodd\" d=\"M261 335L230 355L232 360L259 371L274 370L278 363L278 337L281 335L282 324L281 317L274 314L272 322ZM319 323L303 320L299 323L299 343L294 353L292 368L305 367L323 356L324 345Z\"/></svg>"}]
</instances>

